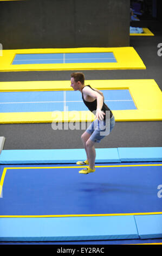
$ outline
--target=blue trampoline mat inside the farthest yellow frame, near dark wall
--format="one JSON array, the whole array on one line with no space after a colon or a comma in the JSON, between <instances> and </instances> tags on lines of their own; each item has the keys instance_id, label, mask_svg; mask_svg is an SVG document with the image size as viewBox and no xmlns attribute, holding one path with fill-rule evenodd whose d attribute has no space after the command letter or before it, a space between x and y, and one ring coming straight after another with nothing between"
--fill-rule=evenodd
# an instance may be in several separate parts
<instances>
[{"instance_id":1,"label":"blue trampoline mat inside the farthest yellow frame, near dark wall","mask_svg":"<svg viewBox=\"0 0 162 256\"><path fill-rule=\"evenodd\" d=\"M112 63L113 52L16 54L12 65L60 63Z\"/></svg>"}]
</instances>

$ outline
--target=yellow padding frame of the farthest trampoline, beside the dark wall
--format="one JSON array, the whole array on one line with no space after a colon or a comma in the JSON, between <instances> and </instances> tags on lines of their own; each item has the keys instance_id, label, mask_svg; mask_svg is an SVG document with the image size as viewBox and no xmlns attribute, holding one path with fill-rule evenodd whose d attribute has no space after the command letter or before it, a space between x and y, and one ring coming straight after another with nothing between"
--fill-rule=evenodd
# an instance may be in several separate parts
<instances>
[{"instance_id":1,"label":"yellow padding frame of the farthest trampoline, beside the dark wall","mask_svg":"<svg viewBox=\"0 0 162 256\"><path fill-rule=\"evenodd\" d=\"M16 54L113 52L116 63L61 63L12 65ZM146 69L133 47L83 47L3 50L0 71Z\"/></svg>"}]
</instances>

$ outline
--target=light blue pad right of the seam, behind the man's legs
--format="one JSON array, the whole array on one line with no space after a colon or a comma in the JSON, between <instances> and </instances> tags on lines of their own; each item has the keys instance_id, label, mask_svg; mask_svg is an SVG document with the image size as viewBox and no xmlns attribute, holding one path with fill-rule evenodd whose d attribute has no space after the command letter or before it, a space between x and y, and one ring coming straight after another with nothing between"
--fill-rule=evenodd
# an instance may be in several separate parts
<instances>
[{"instance_id":1,"label":"light blue pad right of the seam, behind the man's legs","mask_svg":"<svg viewBox=\"0 0 162 256\"><path fill-rule=\"evenodd\" d=\"M118 148L121 162L162 161L162 147Z\"/></svg>"}]
</instances>

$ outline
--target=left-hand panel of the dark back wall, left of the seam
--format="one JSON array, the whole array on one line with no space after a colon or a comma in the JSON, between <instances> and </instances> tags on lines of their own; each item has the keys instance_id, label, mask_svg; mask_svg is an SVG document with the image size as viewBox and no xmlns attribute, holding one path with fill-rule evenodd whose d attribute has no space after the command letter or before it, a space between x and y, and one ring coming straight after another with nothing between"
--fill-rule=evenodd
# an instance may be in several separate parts
<instances>
[{"instance_id":1,"label":"left-hand panel of the dark back wall, left of the seam","mask_svg":"<svg viewBox=\"0 0 162 256\"><path fill-rule=\"evenodd\" d=\"M74 44L73 0L0 2L4 49L53 48Z\"/></svg>"}]
</instances>

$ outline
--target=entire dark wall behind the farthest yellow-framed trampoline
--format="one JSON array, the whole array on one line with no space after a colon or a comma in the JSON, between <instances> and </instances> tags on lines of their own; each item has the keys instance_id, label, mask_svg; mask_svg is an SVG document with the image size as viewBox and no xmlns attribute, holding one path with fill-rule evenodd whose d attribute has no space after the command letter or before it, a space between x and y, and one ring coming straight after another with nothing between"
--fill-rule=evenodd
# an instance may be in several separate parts
<instances>
[{"instance_id":1,"label":"entire dark wall behind the farthest yellow-framed trampoline","mask_svg":"<svg viewBox=\"0 0 162 256\"><path fill-rule=\"evenodd\" d=\"M3 49L129 46L129 0L0 2Z\"/></svg>"}]
</instances>

